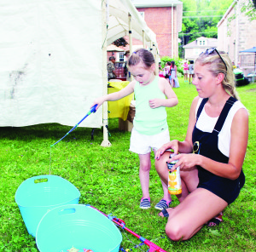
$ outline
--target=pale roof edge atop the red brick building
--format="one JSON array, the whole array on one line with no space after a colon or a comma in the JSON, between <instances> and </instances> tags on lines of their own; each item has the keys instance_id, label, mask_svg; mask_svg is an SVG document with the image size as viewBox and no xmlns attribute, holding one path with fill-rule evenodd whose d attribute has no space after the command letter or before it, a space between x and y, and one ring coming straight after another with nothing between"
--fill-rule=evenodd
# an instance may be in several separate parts
<instances>
[{"instance_id":1,"label":"pale roof edge atop the red brick building","mask_svg":"<svg viewBox=\"0 0 256 252\"><path fill-rule=\"evenodd\" d=\"M169 7L183 4L181 1L178 0L131 0L131 3L133 3L137 8Z\"/></svg>"}]
</instances>

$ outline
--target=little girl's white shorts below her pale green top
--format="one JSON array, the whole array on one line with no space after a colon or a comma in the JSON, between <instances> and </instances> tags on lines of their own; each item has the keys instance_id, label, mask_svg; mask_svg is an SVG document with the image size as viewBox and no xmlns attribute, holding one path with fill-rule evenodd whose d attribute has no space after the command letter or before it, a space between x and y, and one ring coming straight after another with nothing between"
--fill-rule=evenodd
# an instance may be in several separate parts
<instances>
[{"instance_id":1,"label":"little girl's white shorts below her pale green top","mask_svg":"<svg viewBox=\"0 0 256 252\"><path fill-rule=\"evenodd\" d=\"M151 150L157 151L161 146L170 141L169 129L157 135L143 135L136 129L131 130L131 140L129 151L137 154L147 154Z\"/></svg>"}]
</instances>

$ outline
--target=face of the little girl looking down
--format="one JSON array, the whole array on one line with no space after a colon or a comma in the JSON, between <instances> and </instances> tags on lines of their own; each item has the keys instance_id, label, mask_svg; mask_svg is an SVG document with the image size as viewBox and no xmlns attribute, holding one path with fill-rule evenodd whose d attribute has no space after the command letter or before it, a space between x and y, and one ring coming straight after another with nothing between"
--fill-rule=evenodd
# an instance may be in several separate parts
<instances>
[{"instance_id":1,"label":"face of the little girl looking down","mask_svg":"<svg viewBox=\"0 0 256 252\"><path fill-rule=\"evenodd\" d=\"M154 80L154 68L155 64L149 68L145 68L143 62L140 62L136 66L129 66L129 71L138 83L141 85L148 85Z\"/></svg>"}]
</instances>

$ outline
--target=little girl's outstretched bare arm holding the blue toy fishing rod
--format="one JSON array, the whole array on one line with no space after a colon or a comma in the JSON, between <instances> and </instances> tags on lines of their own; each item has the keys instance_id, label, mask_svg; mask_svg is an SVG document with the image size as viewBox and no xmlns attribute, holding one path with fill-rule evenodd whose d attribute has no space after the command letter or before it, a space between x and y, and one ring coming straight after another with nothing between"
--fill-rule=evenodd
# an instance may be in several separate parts
<instances>
[{"instance_id":1,"label":"little girl's outstretched bare arm holding the blue toy fishing rod","mask_svg":"<svg viewBox=\"0 0 256 252\"><path fill-rule=\"evenodd\" d=\"M106 95L103 95L102 97L96 98L96 100L94 100L92 106L95 106L97 104L98 105L98 106L96 106L96 110L97 110L102 105L102 103L104 101L113 101L113 100L119 100L119 99L124 98L125 96L134 92L135 83L136 83L135 81L132 81L124 89L121 89L118 92L115 92L112 94L106 94Z\"/></svg>"}]
</instances>

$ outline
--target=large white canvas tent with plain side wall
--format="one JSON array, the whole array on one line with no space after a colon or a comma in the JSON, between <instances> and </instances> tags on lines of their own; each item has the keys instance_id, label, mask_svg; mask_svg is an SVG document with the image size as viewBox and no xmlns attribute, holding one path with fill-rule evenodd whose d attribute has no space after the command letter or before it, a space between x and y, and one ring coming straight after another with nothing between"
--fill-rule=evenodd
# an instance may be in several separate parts
<instances>
[{"instance_id":1,"label":"large white canvas tent with plain side wall","mask_svg":"<svg viewBox=\"0 0 256 252\"><path fill-rule=\"evenodd\" d=\"M107 93L107 45L131 30L156 48L130 0L105 1L0 0L0 126L73 126ZM101 108L79 126L102 121Z\"/></svg>"}]
</instances>

